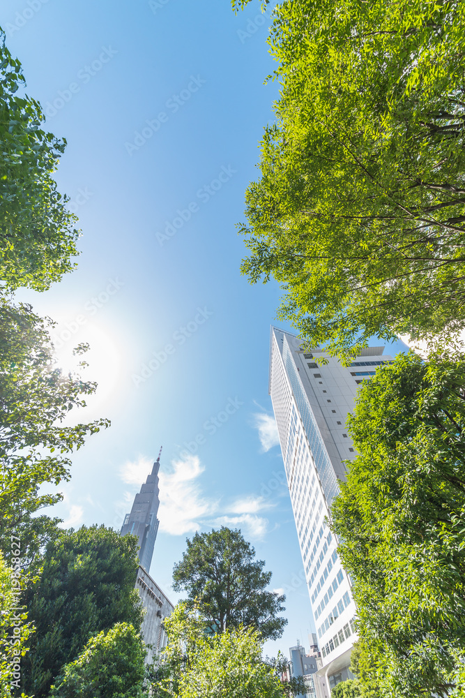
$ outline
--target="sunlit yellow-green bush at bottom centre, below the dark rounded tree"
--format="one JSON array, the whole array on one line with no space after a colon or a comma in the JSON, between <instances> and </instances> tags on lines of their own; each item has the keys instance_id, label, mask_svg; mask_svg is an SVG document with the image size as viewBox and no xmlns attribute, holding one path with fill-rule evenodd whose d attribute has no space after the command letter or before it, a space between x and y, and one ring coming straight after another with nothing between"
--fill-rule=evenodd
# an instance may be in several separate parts
<instances>
[{"instance_id":1,"label":"sunlit yellow-green bush at bottom centre, below the dark rounded tree","mask_svg":"<svg viewBox=\"0 0 465 698\"><path fill-rule=\"evenodd\" d=\"M153 698L284 698L304 690L302 680L282 683L282 661L264 660L254 628L212 634L199 605L181 602L165 620L169 642L160 656Z\"/></svg>"}]
</instances>

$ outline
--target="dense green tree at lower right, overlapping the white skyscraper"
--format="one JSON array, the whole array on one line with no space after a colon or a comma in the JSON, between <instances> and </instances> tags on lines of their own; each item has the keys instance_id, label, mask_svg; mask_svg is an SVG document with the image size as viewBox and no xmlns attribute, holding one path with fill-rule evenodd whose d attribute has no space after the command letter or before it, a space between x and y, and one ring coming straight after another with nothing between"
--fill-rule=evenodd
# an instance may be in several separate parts
<instances>
[{"instance_id":1,"label":"dense green tree at lower right, overlapping the white skyscraper","mask_svg":"<svg viewBox=\"0 0 465 698\"><path fill-rule=\"evenodd\" d=\"M399 355L363 384L349 429L358 456L332 528L353 579L359 681L376 697L462 696L464 357Z\"/></svg>"}]
</instances>

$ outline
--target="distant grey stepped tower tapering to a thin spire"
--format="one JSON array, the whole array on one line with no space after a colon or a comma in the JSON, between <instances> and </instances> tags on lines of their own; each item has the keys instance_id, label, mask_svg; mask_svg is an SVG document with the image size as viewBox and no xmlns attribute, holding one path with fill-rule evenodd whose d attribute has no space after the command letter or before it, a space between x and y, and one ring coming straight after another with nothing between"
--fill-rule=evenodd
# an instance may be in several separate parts
<instances>
[{"instance_id":1,"label":"distant grey stepped tower tapering to a thin spire","mask_svg":"<svg viewBox=\"0 0 465 698\"><path fill-rule=\"evenodd\" d=\"M130 514L126 514L121 526L121 535L132 533L139 538L139 563L148 572L155 546L155 538L158 532L158 507L160 499L158 495L158 470L160 469L160 453L153 463L152 472L148 475L141 491L134 498Z\"/></svg>"}]
</instances>

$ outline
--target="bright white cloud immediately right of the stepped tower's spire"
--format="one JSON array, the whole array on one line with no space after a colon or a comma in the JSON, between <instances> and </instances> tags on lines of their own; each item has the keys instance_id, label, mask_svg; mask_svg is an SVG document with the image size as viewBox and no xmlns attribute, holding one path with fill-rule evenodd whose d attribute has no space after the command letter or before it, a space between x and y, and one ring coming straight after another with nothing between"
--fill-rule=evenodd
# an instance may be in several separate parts
<instances>
[{"instance_id":1,"label":"bright white cloud immediately right of the stepped tower's spire","mask_svg":"<svg viewBox=\"0 0 465 698\"><path fill-rule=\"evenodd\" d=\"M196 480L204 472L198 456L172 461L173 472L160 472L160 530L171 535L195 533L218 509L218 502L202 496Z\"/></svg>"}]
</instances>

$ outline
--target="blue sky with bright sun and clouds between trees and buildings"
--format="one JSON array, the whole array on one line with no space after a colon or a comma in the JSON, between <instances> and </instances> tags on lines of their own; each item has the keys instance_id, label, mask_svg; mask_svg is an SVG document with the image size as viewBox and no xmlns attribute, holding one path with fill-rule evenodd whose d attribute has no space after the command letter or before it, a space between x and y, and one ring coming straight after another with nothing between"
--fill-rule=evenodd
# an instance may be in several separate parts
<instances>
[{"instance_id":1,"label":"blue sky with bright sun and clouds between trees and buildings","mask_svg":"<svg viewBox=\"0 0 465 698\"><path fill-rule=\"evenodd\" d=\"M0 23L68 140L56 179L83 233L73 274L18 297L58 322L63 365L89 341L100 387L75 417L112 419L73 457L54 514L119 528L163 445L151 574L176 601L186 536L240 527L287 593L289 625L266 646L287 654L313 621L270 419L280 292L240 275L235 229L277 97L268 14L256 2L234 15L229 0L3 0Z\"/></svg>"}]
</instances>

